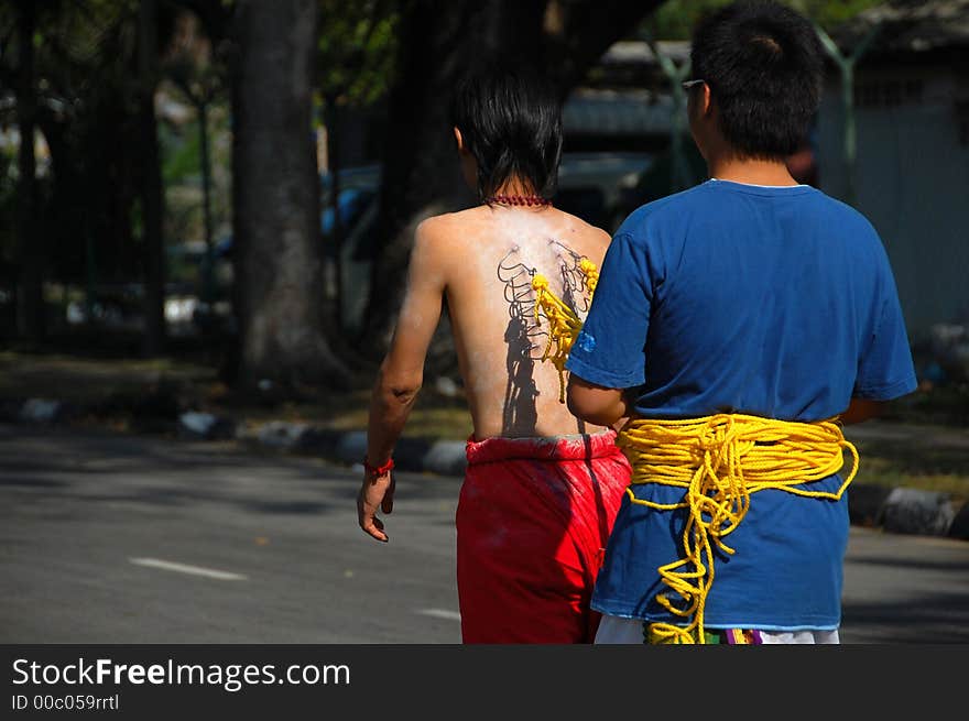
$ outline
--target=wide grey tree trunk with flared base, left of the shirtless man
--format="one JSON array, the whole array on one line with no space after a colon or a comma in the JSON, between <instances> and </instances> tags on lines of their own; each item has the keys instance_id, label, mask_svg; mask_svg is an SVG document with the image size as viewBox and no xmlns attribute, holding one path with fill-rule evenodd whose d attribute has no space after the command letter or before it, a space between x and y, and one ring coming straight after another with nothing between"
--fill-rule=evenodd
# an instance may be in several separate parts
<instances>
[{"instance_id":1,"label":"wide grey tree trunk with flared base, left of the shirtless man","mask_svg":"<svg viewBox=\"0 0 969 721\"><path fill-rule=\"evenodd\" d=\"M325 337L319 176L312 135L315 0L240 0L233 15L237 381L342 384Z\"/></svg>"}]
</instances>

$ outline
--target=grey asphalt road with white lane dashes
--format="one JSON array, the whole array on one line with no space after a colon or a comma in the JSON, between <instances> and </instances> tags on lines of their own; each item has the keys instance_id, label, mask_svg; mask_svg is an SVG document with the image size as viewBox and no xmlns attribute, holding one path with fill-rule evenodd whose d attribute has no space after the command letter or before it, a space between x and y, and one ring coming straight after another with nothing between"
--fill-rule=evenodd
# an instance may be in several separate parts
<instances>
[{"instance_id":1,"label":"grey asphalt road with white lane dashes","mask_svg":"<svg viewBox=\"0 0 969 721\"><path fill-rule=\"evenodd\" d=\"M460 642L455 478L233 444L0 425L0 643ZM852 528L845 643L969 643L969 543Z\"/></svg>"}]
</instances>

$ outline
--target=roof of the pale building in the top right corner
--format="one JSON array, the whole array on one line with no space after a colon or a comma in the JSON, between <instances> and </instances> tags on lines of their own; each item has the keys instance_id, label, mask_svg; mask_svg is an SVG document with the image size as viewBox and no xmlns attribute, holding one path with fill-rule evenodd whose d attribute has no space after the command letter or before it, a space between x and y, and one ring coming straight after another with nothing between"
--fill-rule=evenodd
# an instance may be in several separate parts
<instances>
[{"instance_id":1,"label":"roof of the pale building in the top right corner","mask_svg":"<svg viewBox=\"0 0 969 721\"><path fill-rule=\"evenodd\" d=\"M840 25L831 33L846 51L874 26L871 54L927 53L969 46L969 0L890 0Z\"/></svg>"}]
</instances>

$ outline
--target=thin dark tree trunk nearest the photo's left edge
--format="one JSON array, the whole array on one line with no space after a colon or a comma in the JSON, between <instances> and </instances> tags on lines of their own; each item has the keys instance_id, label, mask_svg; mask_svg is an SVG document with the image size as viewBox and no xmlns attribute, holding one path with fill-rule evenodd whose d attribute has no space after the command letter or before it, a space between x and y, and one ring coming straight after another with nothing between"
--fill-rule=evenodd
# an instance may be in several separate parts
<instances>
[{"instance_id":1,"label":"thin dark tree trunk nearest the photo's left edge","mask_svg":"<svg viewBox=\"0 0 969 721\"><path fill-rule=\"evenodd\" d=\"M34 88L34 31L36 8L30 0L19 3L17 68L17 122L20 131L18 153L17 234L20 282L17 297L17 326L21 337L36 345L44 337L44 237L36 225L36 92Z\"/></svg>"}]
</instances>

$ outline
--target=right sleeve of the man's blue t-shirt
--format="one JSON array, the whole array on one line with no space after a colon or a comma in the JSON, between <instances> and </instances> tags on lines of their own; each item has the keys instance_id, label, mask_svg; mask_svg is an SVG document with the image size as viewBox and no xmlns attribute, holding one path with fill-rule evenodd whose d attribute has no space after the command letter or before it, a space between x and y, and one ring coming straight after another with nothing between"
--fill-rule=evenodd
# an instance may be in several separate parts
<instances>
[{"instance_id":1,"label":"right sleeve of the man's blue t-shirt","mask_svg":"<svg viewBox=\"0 0 969 721\"><path fill-rule=\"evenodd\" d=\"M863 351L858 362L852 395L871 401L891 401L912 393L918 382L895 278L884 253L880 255L879 264L880 310L872 325L870 338L865 339L867 343L862 343Z\"/></svg>"}]
</instances>

